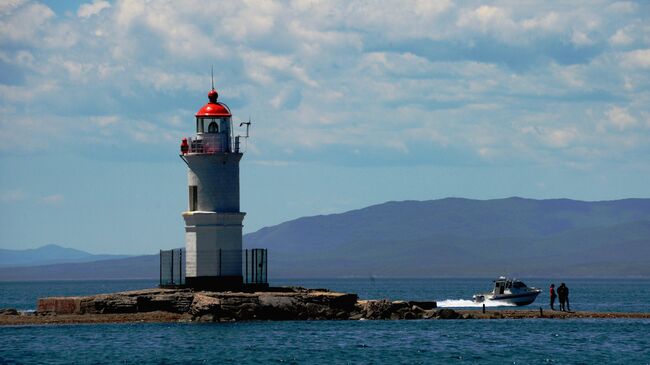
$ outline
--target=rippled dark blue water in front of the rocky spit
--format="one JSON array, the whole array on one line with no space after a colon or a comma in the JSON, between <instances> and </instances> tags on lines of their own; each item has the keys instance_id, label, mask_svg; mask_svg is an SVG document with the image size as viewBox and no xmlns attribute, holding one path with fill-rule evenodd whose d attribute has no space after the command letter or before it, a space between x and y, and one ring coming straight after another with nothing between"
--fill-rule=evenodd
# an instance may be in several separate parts
<instances>
[{"instance_id":1,"label":"rippled dark blue water in front of the rocky spit","mask_svg":"<svg viewBox=\"0 0 650 365\"><path fill-rule=\"evenodd\" d=\"M0 363L648 364L650 321L438 320L0 328Z\"/></svg>"}]
</instances>

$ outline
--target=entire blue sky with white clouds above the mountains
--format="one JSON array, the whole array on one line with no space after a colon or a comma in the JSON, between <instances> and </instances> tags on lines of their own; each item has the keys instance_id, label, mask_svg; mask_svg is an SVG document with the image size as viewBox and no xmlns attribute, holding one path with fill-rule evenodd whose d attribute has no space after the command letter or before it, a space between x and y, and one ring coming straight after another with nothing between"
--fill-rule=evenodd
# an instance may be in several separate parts
<instances>
[{"instance_id":1,"label":"entire blue sky with white clouds above the mountains","mask_svg":"<svg viewBox=\"0 0 650 365\"><path fill-rule=\"evenodd\" d=\"M650 2L0 0L0 248L183 246L179 143L212 66L252 120L245 232L650 197Z\"/></svg>"}]
</instances>

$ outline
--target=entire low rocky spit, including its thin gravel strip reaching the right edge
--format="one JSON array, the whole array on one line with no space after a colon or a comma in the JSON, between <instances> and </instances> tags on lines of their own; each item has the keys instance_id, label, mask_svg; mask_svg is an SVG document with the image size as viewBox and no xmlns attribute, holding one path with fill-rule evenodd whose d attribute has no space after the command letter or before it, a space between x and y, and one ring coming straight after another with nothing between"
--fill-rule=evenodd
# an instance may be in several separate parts
<instances>
[{"instance_id":1,"label":"entire low rocky spit, including its thin gravel strip reaching the right edge","mask_svg":"<svg viewBox=\"0 0 650 365\"><path fill-rule=\"evenodd\" d=\"M0 310L0 326L281 320L650 319L640 312L437 308L435 301L360 300L327 289L276 287L260 292L146 289L38 300L36 312Z\"/></svg>"}]
</instances>

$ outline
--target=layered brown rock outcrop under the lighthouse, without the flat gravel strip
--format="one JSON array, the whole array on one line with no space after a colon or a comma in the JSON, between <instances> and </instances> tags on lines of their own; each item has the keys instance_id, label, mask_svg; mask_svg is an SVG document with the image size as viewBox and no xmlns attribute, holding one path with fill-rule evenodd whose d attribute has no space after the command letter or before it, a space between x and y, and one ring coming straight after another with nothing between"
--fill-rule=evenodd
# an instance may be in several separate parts
<instances>
[{"instance_id":1,"label":"layered brown rock outcrop under the lighthouse, without the flat gravel strip","mask_svg":"<svg viewBox=\"0 0 650 365\"><path fill-rule=\"evenodd\" d=\"M66 322L103 322L110 318L117 322L462 318L455 311L435 307L435 302L359 300L356 294L300 287L263 292L147 289L42 298L36 314L30 317L49 318L45 322L57 322L57 317Z\"/></svg>"}]
</instances>

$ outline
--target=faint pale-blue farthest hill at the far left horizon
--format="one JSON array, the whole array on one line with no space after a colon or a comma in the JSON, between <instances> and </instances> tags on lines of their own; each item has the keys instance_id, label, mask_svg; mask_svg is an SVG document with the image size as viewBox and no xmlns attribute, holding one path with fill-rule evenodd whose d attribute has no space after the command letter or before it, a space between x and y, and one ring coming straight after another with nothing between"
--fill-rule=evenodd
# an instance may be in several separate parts
<instances>
[{"instance_id":1,"label":"faint pale-blue farthest hill at the far left horizon","mask_svg":"<svg viewBox=\"0 0 650 365\"><path fill-rule=\"evenodd\" d=\"M46 245L27 250L0 249L0 267L35 266L58 263L90 262L129 257L127 255L94 255L59 245Z\"/></svg>"}]
</instances>

